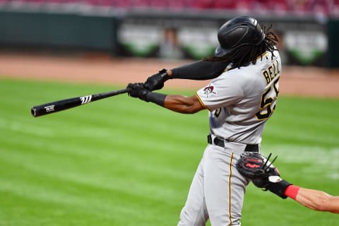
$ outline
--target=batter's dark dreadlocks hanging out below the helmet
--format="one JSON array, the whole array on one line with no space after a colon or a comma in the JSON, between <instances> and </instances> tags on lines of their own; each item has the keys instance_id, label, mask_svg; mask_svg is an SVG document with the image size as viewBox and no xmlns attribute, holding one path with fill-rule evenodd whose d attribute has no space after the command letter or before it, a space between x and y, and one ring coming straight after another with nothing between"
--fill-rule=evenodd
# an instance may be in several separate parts
<instances>
[{"instance_id":1,"label":"batter's dark dreadlocks hanging out below the helmet","mask_svg":"<svg viewBox=\"0 0 339 226\"><path fill-rule=\"evenodd\" d=\"M249 64L256 64L258 57L263 58L263 53L269 51L272 53L272 59L274 57L275 45L278 42L278 37L270 31L272 24L266 28L265 25L261 25L263 32L265 33L265 39L258 45L246 44L233 49L223 57L204 57L204 61L225 61L228 64L232 63L230 69L236 69L241 66L247 66Z\"/></svg>"}]
</instances>

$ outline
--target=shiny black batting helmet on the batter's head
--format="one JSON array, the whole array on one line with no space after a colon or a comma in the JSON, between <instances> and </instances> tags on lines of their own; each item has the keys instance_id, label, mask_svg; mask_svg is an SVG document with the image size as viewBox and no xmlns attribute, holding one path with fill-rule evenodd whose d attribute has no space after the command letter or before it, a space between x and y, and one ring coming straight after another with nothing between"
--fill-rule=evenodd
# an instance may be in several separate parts
<instances>
[{"instance_id":1,"label":"shiny black batting helmet on the batter's head","mask_svg":"<svg viewBox=\"0 0 339 226\"><path fill-rule=\"evenodd\" d=\"M218 31L219 46L215 57L223 57L237 47L246 44L258 45L265 39L265 33L258 21L249 16L237 16L224 23Z\"/></svg>"}]
</instances>

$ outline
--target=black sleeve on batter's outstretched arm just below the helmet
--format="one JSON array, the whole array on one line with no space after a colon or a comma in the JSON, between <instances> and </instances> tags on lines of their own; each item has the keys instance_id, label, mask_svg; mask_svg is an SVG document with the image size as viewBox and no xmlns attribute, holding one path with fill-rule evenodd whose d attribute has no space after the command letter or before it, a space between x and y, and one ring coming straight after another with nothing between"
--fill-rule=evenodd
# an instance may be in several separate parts
<instances>
[{"instance_id":1,"label":"black sleeve on batter's outstretched arm just below the helmet","mask_svg":"<svg viewBox=\"0 0 339 226\"><path fill-rule=\"evenodd\" d=\"M225 62L197 61L192 64L171 69L172 78L209 80L220 76L226 69Z\"/></svg>"}]
</instances>

